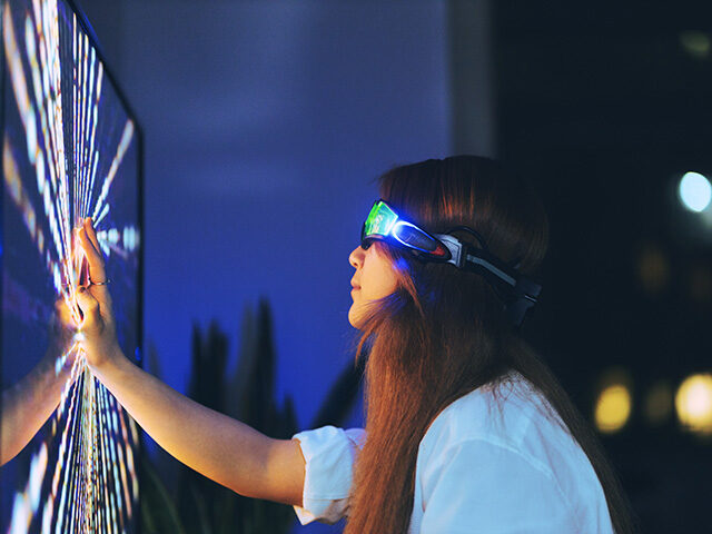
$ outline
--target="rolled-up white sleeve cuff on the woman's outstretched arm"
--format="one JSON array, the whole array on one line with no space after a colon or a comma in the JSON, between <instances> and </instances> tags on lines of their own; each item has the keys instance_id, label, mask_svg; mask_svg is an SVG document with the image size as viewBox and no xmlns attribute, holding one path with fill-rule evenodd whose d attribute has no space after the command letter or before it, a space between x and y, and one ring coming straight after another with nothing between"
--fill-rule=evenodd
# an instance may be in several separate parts
<instances>
[{"instance_id":1,"label":"rolled-up white sleeve cuff on the woman's outstretched arm","mask_svg":"<svg viewBox=\"0 0 712 534\"><path fill-rule=\"evenodd\" d=\"M303 505L294 510L303 525L336 523L346 515L356 454L366 442L363 428L324 426L295 434L306 461Z\"/></svg>"}]
</instances>

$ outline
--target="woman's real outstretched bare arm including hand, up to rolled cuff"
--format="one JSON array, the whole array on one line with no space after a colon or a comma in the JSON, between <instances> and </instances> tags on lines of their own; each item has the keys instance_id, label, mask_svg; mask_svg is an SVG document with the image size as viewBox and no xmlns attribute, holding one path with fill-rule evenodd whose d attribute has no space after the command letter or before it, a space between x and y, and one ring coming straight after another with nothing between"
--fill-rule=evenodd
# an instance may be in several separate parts
<instances>
[{"instance_id":1,"label":"woman's real outstretched bare arm including hand, up to rolled cuff","mask_svg":"<svg viewBox=\"0 0 712 534\"><path fill-rule=\"evenodd\" d=\"M90 278L106 280L90 219L79 239ZM240 495L301 504L305 459L297 441L271 439L180 395L131 364L116 339L106 285L79 288L77 301L83 313L82 345L91 370L161 447Z\"/></svg>"}]
</instances>

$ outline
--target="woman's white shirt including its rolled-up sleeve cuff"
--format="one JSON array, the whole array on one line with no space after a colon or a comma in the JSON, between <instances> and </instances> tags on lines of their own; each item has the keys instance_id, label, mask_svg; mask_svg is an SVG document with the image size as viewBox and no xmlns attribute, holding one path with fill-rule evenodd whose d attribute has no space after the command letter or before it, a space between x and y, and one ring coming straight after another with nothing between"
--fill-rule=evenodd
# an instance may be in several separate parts
<instances>
[{"instance_id":1,"label":"woman's white shirt including its rolled-up sleeve cuff","mask_svg":"<svg viewBox=\"0 0 712 534\"><path fill-rule=\"evenodd\" d=\"M518 373L485 385L435 418L421 441L409 534L613 533L601 483L548 403ZM553 411L551 412L553 414ZM360 428L294 436L306 459L300 523L348 512Z\"/></svg>"}]
</instances>

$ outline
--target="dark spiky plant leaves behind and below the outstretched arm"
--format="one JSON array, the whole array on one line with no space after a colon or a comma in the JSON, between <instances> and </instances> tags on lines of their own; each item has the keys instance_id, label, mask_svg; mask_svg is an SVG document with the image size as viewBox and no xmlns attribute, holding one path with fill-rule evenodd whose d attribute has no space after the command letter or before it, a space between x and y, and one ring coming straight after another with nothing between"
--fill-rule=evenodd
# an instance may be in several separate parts
<instances>
[{"instance_id":1,"label":"dark spiky plant leaves behind and below the outstretched arm","mask_svg":"<svg viewBox=\"0 0 712 534\"><path fill-rule=\"evenodd\" d=\"M227 356L227 337L215 322L207 333L194 326L190 398L270 437L290 438L297 432L296 414L290 396L283 406L274 398L276 353L266 299L259 300L256 313L249 307L245 310L238 365L231 378L226 372ZM362 375L363 364L347 366L312 427L343 424L357 398ZM146 453L139 465L144 534L280 534L294 524L290 506L243 497L186 466L180 467L174 502Z\"/></svg>"}]
</instances>

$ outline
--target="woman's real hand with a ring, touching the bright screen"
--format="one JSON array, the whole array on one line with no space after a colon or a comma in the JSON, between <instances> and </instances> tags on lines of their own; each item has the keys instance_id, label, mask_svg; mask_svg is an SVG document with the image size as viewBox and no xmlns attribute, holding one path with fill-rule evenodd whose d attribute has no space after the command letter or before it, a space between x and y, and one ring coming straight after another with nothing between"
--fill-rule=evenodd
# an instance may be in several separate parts
<instances>
[{"instance_id":1,"label":"woman's real hand with a ring, touching the bright screen","mask_svg":"<svg viewBox=\"0 0 712 534\"><path fill-rule=\"evenodd\" d=\"M77 304L83 315L79 325L79 332L82 334L80 343L87 353L89 366L99 369L107 362L122 356L116 337L111 295L106 285L103 257L90 218L85 219L83 226L79 229L79 243L89 264L89 280L93 281L87 287L77 288Z\"/></svg>"}]
</instances>

